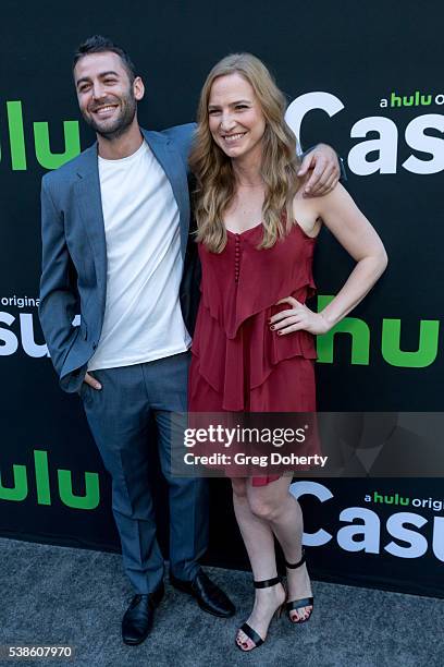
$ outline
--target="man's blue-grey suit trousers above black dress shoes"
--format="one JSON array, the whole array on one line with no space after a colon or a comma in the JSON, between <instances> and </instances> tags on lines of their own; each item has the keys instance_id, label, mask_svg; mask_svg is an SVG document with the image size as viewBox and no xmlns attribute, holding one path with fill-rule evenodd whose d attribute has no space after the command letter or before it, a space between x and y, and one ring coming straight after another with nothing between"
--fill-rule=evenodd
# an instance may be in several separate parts
<instances>
[{"instance_id":1,"label":"man's blue-grey suit trousers above black dress shoes","mask_svg":"<svg viewBox=\"0 0 444 667\"><path fill-rule=\"evenodd\" d=\"M134 366L92 371L102 385L85 383L81 397L89 427L112 477L112 510L125 571L136 593L150 593L163 578L149 484L149 423L157 424L159 458L169 485L170 569L190 580L208 545L207 480L171 474L171 412L187 410L190 353Z\"/></svg>"}]
</instances>

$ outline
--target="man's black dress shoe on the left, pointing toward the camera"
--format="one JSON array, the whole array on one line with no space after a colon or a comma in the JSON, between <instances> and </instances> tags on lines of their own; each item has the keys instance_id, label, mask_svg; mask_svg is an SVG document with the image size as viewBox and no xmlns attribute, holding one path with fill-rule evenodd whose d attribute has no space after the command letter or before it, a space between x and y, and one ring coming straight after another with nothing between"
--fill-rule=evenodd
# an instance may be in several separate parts
<instances>
[{"instance_id":1,"label":"man's black dress shoe on the left, pointing toward the camera","mask_svg":"<svg viewBox=\"0 0 444 667\"><path fill-rule=\"evenodd\" d=\"M153 593L138 594L133 597L122 620L122 639L125 644L140 644L152 627L155 609L161 602L165 590L163 583Z\"/></svg>"}]
</instances>

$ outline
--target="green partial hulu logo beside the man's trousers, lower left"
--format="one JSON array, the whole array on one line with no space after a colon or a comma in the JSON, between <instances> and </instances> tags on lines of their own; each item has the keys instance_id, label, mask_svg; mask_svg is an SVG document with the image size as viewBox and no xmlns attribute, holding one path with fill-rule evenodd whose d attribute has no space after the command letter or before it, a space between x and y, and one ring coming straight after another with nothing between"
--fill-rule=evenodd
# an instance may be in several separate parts
<instances>
[{"instance_id":1,"label":"green partial hulu logo beside the man's trousers, lower left","mask_svg":"<svg viewBox=\"0 0 444 667\"><path fill-rule=\"evenodd\" d=\"M28 471L26 465L14 463L14 485L3 486L0 473L0 500L14 500L20 502L28 495ZM34 451L34 473L38 505L51 505L51 486L49 480L48 452L36 449ZM76 496L73 493L72 473L69 470L57 471L59 496L63 505L73 509L92 510L99 505L99 475L85 473L85 495Z\"/></svg>"}]
</instances>

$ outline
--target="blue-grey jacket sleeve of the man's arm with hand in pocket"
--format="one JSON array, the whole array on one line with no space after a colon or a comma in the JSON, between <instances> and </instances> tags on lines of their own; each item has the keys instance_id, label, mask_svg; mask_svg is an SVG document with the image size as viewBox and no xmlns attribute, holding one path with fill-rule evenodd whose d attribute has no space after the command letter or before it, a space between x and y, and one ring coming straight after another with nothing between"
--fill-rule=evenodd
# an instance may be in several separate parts
<instances>
[{"instance_id":1,"label":"blue-grey jacket sleeve of the man's arm with hand in pocket","mask_svg":"<svg viewBox=\"0 0 444 667\"><path fill-rule=\"evenodd\" d=\"M53 366L60 377L66 355L78 335L72 322L77 311L76 271L66 246L64 217L41 182L42 270L39 317Z\"/></svg>"}]
</instances>

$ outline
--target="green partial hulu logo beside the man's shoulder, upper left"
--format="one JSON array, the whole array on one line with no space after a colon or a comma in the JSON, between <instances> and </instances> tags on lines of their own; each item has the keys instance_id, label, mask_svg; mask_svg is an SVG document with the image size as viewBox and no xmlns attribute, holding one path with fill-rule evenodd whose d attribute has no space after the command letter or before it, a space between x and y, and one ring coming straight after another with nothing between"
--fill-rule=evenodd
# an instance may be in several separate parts
<instances>
[{"instance_id":1,"label":"green partial hulu logo beside the man's shoulder, upper left","mask_svg":"<svg viewBox=\"0 0 444 667\"><path fill-rule=\"evenodd\" d=\"M23 124L21 101L7 102L9 142L11 150L11 167L13 171L27 169L27 146ZM63 121L64 150L52 153L47 122L33 123L34 148L37 161L45 169L57 169L81 153L81 137L77 121ZM0 153L0 160L2 154Z\"/></svg>"}]
</instances>

